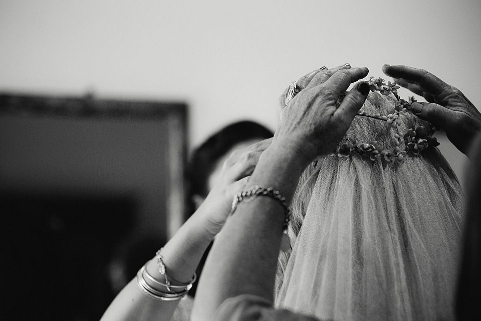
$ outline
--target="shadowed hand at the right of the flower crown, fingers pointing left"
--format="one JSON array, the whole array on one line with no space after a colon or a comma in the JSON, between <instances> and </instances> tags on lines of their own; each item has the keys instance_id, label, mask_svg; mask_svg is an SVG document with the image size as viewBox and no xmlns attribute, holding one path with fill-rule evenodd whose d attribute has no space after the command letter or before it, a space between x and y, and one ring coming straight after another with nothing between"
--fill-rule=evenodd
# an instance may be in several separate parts
<instances>
[{"instance_id":1,"label":"shadowed hand at the right of the flower crown, fingers pointing left","mask_svg":"<svg viewBox=\"0 0 481 321\"><path fill-rule=\"evenodd\" d=\"M481 113L459 89L423 69L384 65L382 70L400 86L423 96L429 103L413 103L411 111L443 129L453 145L467 154L470 142L481 132Z\"/></svg>"}]
</instances>

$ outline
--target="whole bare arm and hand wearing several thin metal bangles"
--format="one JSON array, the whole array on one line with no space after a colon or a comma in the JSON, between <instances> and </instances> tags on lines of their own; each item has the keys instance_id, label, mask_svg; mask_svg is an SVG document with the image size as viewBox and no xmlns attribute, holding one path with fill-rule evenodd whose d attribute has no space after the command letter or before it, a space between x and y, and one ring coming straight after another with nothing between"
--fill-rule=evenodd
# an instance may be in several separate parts
<instances>
[{"instance_id":1,"label":"whole bare arm and hand wearing several thin metal bangles","mask_svg":"<svg viewBox=\"0 0 481 321\"><path fill-rule=\"evenodd\" d=\"M163 261L170 278L180 282L190 280L205 249L225 223L232 198L244 189L260 155L269 147L271 141L272 138L256 142L227 156L204 202L162 250ZM164 280L156 260L149 261L146 268L155 279ZM146 281L152 287L168 293L166 288L159 288L158 284L148 279ZM101 320L167 321L178 304L179 300L160 301L147 296L134 278L115 297Z\"/></svg>"}]
</instances>

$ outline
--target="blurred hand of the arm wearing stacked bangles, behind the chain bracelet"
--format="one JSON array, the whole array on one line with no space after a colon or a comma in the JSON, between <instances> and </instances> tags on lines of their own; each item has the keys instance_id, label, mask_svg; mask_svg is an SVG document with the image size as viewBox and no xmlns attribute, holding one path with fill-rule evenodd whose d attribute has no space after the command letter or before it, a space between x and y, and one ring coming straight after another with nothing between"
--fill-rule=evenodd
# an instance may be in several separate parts
<instances>
[{"instance_id":1,"label":"blurred hand of the arm wearing stacked bangles, behind the chain bracelet","mask_svg":"<svg viewBox=\"0 0 481 321\"><path fill-rule=\"evenodd\" d=\"M225 224L232 199L242 192L259 162L262 152L271 145L273 138L264 139L246 148L234 150L225 160L214 186L199 207L212 235Z\"/></svg>"}]
</instances>

